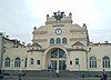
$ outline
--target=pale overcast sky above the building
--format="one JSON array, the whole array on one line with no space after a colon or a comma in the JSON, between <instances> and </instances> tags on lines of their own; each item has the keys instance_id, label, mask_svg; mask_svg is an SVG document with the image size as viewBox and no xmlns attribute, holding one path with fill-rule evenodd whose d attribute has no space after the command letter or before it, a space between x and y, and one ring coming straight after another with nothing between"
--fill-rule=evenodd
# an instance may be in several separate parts
<instances>
[{"instance_id":1,"label":"pale overcast sky above the building","mask_svg":"<svg viewBox=\"0 0 111 80\"><path fill-rule=\"evenodd\" d=\"M44 26L46 16L57 11L85 23L91 42L111 42L111 0L0 0L0 32L29 43L33 27Z\"/></svg>"}]
</instances>

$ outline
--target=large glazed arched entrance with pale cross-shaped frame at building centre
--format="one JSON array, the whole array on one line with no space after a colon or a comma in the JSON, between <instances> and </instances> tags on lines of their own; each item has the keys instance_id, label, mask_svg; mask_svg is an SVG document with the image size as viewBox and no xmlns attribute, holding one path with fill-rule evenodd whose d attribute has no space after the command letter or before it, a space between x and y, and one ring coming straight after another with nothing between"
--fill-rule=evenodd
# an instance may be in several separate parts
<instances>
[{"instance_id":1,"label":"large glazed arched entrance with pale cross-shaped frame at building centre","mask_svg":"<svg viewBox=\"0 0 111 80\"><path fill-rule=\"evenodd\" d=\"M65 59L67 59L67 54L62 49L56 48L56 49L51 49L48 52L47 58L49 59L48 63L50 69L53 70L65 70L67 66L65 66Z\"/></svg>"}]
</instances>

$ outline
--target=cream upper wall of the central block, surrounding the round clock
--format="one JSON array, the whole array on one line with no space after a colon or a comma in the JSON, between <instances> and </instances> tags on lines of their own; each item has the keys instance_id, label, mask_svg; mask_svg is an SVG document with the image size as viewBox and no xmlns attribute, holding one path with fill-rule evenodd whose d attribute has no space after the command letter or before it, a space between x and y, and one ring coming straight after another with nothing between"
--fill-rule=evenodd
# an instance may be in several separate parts
<instances>
[{"instance_id":1,"label":"cream upper wall of the central block, surrounding the round clock","mask_svg":"<svg viewBox=\"0 0 111 80\"><path fill-rule=\"evenodd\" d=\"M51 18L52 20L53 18ZM56 22L56 19L53 19L52 21ZM38 42L39 44L41 44L44 49L48 48L50 46L50 39L51 38L67 38L68 39L68 44L65 44L65 47L71 47L75 41L81 41L84 46L87 46L87 30L83 29L82 27L78 26L78 24L72 24L72 23L60 23L60 24L64 24L64 27L52 27L56 26L54 24L47 24L44 27L40 27L39 29L34 29L33 30L33 42ZM62 29L62 33L60 36L56 34L56 29L57 28L61 28ZM37 34L38 31L47 31L47 33L42 33L42 34ZM81 38L81 39L80 39ZM38 41L38 39L46 39L46 42L40 42ZM83 40L84 39L84 40Z\"/></svg>"}]
</instances>

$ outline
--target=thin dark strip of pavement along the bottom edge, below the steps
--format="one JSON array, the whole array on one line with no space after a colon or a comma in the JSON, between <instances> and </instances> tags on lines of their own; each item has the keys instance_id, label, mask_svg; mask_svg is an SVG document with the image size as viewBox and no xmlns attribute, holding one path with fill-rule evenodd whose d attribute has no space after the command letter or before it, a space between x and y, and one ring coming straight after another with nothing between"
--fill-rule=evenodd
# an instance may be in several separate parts
<instances>
[{"instance_id":1,"label":"thin dark strip of pavement along the bottom edge, below the steps","mask_svg":"<svg viewBox=\"0 0 111 80\"><path fill-rule=\"evenodd\" d=\"M0 80L100 80L100 78L38 78L38 77L17 77L17 76L7 76ZM108 78L111 80L111 78Z\"/></svg>"}]
</instances>

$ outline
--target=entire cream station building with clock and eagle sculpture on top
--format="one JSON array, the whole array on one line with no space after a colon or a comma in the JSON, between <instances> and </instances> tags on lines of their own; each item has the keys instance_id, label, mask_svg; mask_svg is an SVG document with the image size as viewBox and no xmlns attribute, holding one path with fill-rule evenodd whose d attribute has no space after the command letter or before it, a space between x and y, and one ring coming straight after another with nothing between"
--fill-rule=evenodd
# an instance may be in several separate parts
<instances>
[{"instance_id":1,"label":"entire cream station building with clock and eagle sculpture on top","mask_svg":"<svg viewBox=\"0 0 111 80\"><path fill-rule=\"evenodd\" d=\"M111 43L90 42L85 23L73 24L71 12L47 14L32 34L27 46L3 37L2 70L111 71Z\"/></svg>"}]
</instances>

